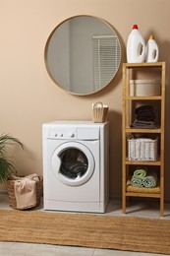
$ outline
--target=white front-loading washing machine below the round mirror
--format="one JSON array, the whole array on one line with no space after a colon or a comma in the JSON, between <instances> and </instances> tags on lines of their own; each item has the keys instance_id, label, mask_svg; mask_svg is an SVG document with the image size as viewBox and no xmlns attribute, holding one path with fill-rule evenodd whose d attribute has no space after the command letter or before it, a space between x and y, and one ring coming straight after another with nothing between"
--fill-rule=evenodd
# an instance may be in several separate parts
<instances>
[{"instance_id":1,"label":"white front-loading washing machine below the round mirror","mask_svg":"<svg viewBox=\"0 0 170 256\"><path fill-rule=\"evenodd\" d=\"M42 125L44 209L104 213L109 202L109 123Z\"/></svg>"}]
</instances>

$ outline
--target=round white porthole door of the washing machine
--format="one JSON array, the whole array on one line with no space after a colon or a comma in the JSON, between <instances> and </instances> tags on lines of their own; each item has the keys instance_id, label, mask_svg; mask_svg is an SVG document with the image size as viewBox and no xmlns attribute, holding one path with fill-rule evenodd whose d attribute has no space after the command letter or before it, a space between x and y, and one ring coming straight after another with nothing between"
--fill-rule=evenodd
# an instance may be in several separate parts
<instances>
[{"instance_id":1,"label":"round white porthole door of the washing machine","mask_svg":"<svg viewBox=\"0 0 170 256\"><path fill-rule=\"evenodd\" d=\"M62 183L79 186L85 184L93 174L94 159L82 143L66 142L54 151L51 167Z\"/></svg>"}]
</instances>

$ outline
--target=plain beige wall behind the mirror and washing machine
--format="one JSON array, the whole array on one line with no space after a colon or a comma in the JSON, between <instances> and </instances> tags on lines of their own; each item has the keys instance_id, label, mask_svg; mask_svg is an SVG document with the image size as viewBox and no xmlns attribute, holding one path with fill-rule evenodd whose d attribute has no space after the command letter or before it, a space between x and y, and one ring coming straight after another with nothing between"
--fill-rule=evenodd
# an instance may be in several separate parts
<instances>
[{"instance_id":1,"label":"plain beige wall behind the mirror and washing machine","mask_svg":"<svg viewBox=\"0 0 170 256\"><path fill-rule=\"evenodd\" d=\"M170 197L169 10L169 0L0 0L0 134L10 133L25 145L24 151L11 152L19 174L42 174L42 123L90 120L92 102L101 100L110 106L110 193L121 195L122 69L102 92L71 96L54 85L44 66L49 33L63 20L87 14L114 26L121 38L123 62L134 24L139 25L145 40L150 32L155 35L159 59L167 63L165 190Z\"/></svg>"}]
</instances>

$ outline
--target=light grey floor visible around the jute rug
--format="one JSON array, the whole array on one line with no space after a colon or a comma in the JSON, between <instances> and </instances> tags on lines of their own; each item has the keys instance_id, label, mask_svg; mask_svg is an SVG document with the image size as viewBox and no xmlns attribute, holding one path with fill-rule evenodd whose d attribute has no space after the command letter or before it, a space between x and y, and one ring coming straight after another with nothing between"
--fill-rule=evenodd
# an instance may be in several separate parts
<instances>
[{"instance_id":1,"label":"light grey floor visible around the jute rug","mask_svg":"<svg viewBox=\"0 0 170 256\"><path fill-rule=\"evenodd\" d=\"M9 209L6 193L0 192L0 209ZM13 211L13 210L11 210ZM33 211L44 211L43 203ZM104 215L121 216L122 205L119 199L110 200ZM159 219L159 205L157 201L143 203L131 201L127 207L128 216ZM164 219L170 220L170 204L165 204ZM56 246L32 243L0 242L0 256L162 256L162 254L138 253L117 250L101 250L74 246Z\"/></svg>"}]
</instances>

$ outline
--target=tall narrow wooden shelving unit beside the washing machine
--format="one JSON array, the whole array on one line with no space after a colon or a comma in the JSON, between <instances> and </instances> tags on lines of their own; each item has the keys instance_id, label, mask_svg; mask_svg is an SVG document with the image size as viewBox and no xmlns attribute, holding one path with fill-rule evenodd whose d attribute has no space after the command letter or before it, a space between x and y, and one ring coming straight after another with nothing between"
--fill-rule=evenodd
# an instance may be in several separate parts
<instances>
[{"instance_id":1,"label":"tall narrow wooden shelving unit beside the washing machine","mask_svg":"<svg viewBox=\"0 0 170 256\"><path fill-rule=\"evenodd\" d=\"M161 81L160 96L130 96L130 80L159 79ZM141 77L140 77L141 79ZM131 128L133 111L137 104L156 104L159 115L159 123L156 129ZM164 212L164 116L165 116L165 62L157 63L124 63L123 64L123 125L122 125L122 209L126 214L126 202L128 197L149 197L160 199L160 217ZM152 160L129 160L128 138L135 134L156 135L159 138L159 157ZM127 181L133 168L145 165L148 169L154 168L159 176L159 188L156 193L144 190L144 192L127 191ZM154 190L153 190L154 191Z\"/></svg>"}]
</instances>

